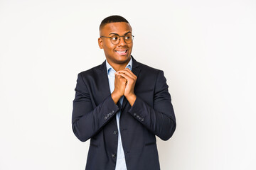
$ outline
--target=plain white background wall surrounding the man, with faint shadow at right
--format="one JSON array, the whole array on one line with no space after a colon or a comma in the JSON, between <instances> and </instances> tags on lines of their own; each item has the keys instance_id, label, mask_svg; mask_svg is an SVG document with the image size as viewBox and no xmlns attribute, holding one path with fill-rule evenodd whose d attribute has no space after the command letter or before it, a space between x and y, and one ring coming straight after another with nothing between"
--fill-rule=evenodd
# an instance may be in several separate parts
<instances>
[{"instance_id":1,"label":"plain white background wall surrounding the man, with faint shadow at right","mask_svg":"<svg viewBox=\"0 0 256 170\"><path fill-rule=\"evenodd\" d=\"M103 18L164 70L177 119L161 169L256 169L256 2L0 0L0 169L85 169L71 128L77 75L105 60Z\"/></svg>"}]
</instances>

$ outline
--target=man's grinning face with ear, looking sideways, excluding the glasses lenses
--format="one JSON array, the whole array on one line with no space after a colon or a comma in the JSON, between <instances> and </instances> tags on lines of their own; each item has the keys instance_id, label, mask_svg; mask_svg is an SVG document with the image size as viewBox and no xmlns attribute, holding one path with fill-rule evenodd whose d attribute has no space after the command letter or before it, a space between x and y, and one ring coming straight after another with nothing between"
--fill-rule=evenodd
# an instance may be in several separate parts
<instances>
[{"instance_id":1,"label":"man's grinning face with ear, looking sideways, excluding the glasses lenses","mask_svg":"<svg viewBox=\"0 0 256 170\"><path fill-rule=\"evenodd\" d=\"M111 37L112 35L132 34L132 28L129 23L107 23L100 29L100 36ZM127 64L131 57L133 42L124 41L124 37L120 38L118 44L114 45L110 38L99 38L99 46L104 50L107 62L110 64Z\"/></svg>"}]
</instances>

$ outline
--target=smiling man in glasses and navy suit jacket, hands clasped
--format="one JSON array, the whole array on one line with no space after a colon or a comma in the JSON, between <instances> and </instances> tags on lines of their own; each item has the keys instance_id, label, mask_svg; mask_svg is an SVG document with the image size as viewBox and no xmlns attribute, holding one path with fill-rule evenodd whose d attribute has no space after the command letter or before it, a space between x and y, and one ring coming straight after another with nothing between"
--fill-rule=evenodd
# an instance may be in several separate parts
<instances>
[{"instance_id":1,"label":"smiling man in glasses and navy suit jacket, hands clasped","mask_svg":"<svg viewBox=\"0 0 256 170\"><path fill-rule=\"evenodd\" d=\"M86 170L160 169L156 136L176 129L164 72L131 56L132 27L122 16L100 24L98 43L106 61L78 74L73 132L90 139Z\"/></svg>"}]
</instances>

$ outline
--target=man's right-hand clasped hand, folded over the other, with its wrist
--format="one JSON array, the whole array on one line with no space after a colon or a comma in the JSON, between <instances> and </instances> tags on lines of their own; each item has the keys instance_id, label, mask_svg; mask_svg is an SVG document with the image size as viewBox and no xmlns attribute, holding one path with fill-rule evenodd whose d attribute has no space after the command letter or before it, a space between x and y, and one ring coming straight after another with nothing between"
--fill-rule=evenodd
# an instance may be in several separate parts
<instances>
[{"instance_id":1,"label":"man's right-hand clasped hand, folded over the other, with its wrist","mask_svg":"<svg viewBox=\"0 0 256 170\"><path fill-rule=\"evenodd\" d=\"M127 80L127 84L124 89L124 96L127 98L127 101L133 106L135 100L136 100L136 95L134 94L134 86L137 81L137 76L133 74L131 70L128 68L120 70L115 73L117 76L121 76L124 79Z\"/></svg>"}]
</instances>

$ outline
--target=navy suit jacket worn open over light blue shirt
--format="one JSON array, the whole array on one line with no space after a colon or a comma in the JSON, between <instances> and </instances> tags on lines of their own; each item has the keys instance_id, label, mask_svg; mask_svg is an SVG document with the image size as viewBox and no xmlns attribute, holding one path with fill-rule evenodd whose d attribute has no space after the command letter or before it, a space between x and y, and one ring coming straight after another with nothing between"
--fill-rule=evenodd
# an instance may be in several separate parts
<instances>
[{"instance_id":1,"label":"navy suit jacket worn open over light blue shirt","mask_svg":"<svg viewBox=\"0 0 256 170\"><path fill-rule=\"evenodd\" d=\"M114 170L118 135L115 114L120 110L127 170L160 169L156 136L169 140L176 129L171 96L163 71L132 60L132 72L137 75L133 106L125 97L122 106L112 100L105 62L78 74L72 127L79 140L90 139L86 170Z\"/></svg>"}]
</instances>

